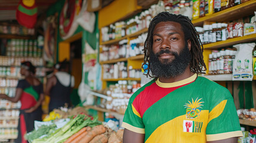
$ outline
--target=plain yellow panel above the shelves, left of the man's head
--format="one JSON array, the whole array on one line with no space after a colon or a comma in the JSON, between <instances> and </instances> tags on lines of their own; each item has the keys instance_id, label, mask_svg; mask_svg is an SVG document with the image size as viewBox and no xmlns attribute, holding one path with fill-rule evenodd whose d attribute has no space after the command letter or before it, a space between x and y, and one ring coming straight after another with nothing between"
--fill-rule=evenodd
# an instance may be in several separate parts
<instances>
[{"instance_id":1,"label":"plain yellow panel above the shelves, left of the man's head","mask_svg":"<svg viewBox=\"0 0 256 143\"><path fill-rule=\"evenodd\" d=\"M140 9L141 7L137 6L137 0L115 0L99 11L98 27L108 26L121 18L128 18L127 16Z\"/></svg>"}]
</instances>

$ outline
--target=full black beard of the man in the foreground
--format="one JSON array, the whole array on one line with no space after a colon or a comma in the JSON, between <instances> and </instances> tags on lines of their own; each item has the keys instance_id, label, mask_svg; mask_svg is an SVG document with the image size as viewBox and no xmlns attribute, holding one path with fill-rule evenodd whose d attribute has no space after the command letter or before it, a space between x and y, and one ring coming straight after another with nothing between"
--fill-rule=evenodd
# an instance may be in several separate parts
<instances>
[{"instance_id":1,"label":"full black beard of the man in the foreground","mask_svg":"<svg viewBox=\"0 0 256 143\"><path fill-rule=\"evenodd\" d=\"M158 56L164 53L173 54L174 59L171 62L168 62L169 59L164 59L164 63L162 63ZM186 46L180 52L180 55L178 55L177 52L169 51L169 49L162 49L156 54L151 52L149 55L149 60L150 70L154 76L169 78L177 77L184 73L186 67L189 66L191 55L186 44Z\"/></svg>"}]
</instances>

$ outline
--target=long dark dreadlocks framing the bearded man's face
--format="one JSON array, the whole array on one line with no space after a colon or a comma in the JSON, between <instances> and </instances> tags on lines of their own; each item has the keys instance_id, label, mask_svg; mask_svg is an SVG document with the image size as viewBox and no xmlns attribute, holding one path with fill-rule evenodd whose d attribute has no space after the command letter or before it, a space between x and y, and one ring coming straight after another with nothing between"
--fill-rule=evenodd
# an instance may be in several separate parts
<instances>
[{"instance_id":1,"label":"long dark dreadlocks framing the bearded man's face","mask_svg":"<svg viewBox=\"0 0 256 143\"><path fill-rule=\"evenodd\" d=\"M188 40L191 41L191 49L190 49L190 55L191 55L191 61L189 63L190 70L193 73L199 74L199 73L205 73L203 71L206 70L205 62L203 61L203 45L199 38L198 32L196 31L195 27L193 26L191 20L184 16L184 15L175 15L170 14L168 12L162 12L156 15L152 19L152 21L149 24L149 29L147 31L147 39L144 42L144 63L142 64L142 68L145 64L147 64L147 68L144 70L147 70L146 76L153 77L149 73L150 69L150 60L149 60L149 54L152 52L152 45L153 45L153 31L155 29L156 24L160 22L165 21L174 21L181 24L182 30L184 32L185 36L185 42ZM202 49L201 49L202 45ZM204 69L203 69L204 67Z\"/></svg>"}]
</instances>

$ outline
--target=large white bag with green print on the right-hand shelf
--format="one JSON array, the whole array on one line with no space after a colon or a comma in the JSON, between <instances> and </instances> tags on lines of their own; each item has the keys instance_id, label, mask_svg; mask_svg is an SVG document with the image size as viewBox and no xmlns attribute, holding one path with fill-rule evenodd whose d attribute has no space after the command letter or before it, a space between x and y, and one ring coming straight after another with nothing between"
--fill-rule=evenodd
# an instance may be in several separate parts
<instances>
[{"instance_id":1,"label":"large white bag with green print on the right-hand shelf","mask_svg":"<svg viewBox=\"0 0 256 143\"><path fill-rule=\"evenodd\" d=\"M238 49L233 63L233 80L252 80L252 50L255 43L234 45Z\"/></svg>"}]
</instances>

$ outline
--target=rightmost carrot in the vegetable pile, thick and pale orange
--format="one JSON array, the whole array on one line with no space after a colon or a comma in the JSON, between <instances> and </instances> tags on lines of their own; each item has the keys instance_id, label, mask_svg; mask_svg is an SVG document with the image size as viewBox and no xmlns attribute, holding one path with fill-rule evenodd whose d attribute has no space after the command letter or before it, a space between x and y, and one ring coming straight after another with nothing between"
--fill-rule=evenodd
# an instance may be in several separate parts
<instances>
[{"instance_id":1,"label":"rightmost carrot in the vegetable pile, thick and pale orange","mask_svg":"<svg viewBox=\"0 0 256 143\"><path fill-rule=\"evenodd\" d=\"M84 138L79 141L79 143L88 143L92 138L104 132L106 132L106 128L104 128L103 125L95 126L90 131L88 131L87 135L85 135Z\"/></svg>"}]
</instances>

